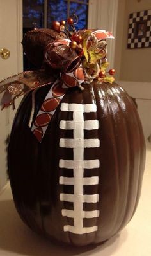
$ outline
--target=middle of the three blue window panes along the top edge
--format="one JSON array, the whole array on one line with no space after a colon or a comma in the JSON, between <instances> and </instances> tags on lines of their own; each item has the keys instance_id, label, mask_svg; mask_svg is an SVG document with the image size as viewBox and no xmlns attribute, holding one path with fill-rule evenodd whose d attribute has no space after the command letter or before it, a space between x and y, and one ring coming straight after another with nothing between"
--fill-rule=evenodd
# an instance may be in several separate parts
<instances>
[{"instance_id":1,"label":"middle of the three blue window panes along the top edge","mask_svg":"<svg viewBox=\"0 0 151 256\"><path fill-rule=\"evenodd\" d=\"M47 7L47 28L51 27L52 21L67 20L67 1L49 0Z\"/></svg>"}]
</instances>

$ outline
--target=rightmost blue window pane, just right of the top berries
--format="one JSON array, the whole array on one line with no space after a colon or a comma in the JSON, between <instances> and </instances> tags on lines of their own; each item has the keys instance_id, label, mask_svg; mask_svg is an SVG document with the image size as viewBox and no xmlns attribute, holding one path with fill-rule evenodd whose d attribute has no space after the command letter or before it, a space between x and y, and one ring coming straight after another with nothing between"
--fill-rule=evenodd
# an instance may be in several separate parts
<instances>
[{"instance_id":1,"label":"rightmost blue window pane, just right of the top berries","mask_svg":"<svg viewBox=\"0 0 151 256\"><path fill-rule=\"evenodd\" d=\"M87 28L88 5L70 2L70 15L73 14L76 14L79 20L76 29Z\"/></svg>"}]
</instances>

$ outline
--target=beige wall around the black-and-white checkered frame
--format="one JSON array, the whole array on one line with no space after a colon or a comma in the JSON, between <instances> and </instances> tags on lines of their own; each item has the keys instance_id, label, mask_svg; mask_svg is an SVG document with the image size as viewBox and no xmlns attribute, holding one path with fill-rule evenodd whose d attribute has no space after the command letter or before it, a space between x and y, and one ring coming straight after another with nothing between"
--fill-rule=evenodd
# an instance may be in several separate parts
<instances>
[{"instance_id":1,"label":"beige wall around the black-and-white checkered frame","mask_svg":"<svg viewBox=\"0 0 151 256\"><path fill-rule=\"evenodd\" d=\"M151 0L119 0L115 46L116 78L151 82L151 48L127 49L129 14L151 9Z\"/></svg>"}]
</instances>

